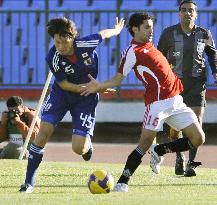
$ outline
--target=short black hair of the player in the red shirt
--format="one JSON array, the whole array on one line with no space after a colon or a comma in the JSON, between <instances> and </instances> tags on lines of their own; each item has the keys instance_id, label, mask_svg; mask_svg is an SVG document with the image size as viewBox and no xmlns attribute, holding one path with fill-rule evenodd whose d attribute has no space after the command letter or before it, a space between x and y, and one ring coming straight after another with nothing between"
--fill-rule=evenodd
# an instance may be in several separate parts
<instances>
[{"instance_id":1,"label":"short black hair of the player in the red shirt","mask_svg":"<svg viewBox=\"0 0 217 205\"><path fill-rule=\"evenodd\" d=\"M134 32L132 30L132 28L135 26L135 27L139 27L140 25L143 24L143 21L144 20L154 20L154 17L153 16L150 16L148 13L146 12L143 12L143 13L134 13L130 16L130 19L128 21L128 24L127 24L127 29L129 31L129 33L131 34L131 36L134 37Z\"/></svg>"}]
</instances>

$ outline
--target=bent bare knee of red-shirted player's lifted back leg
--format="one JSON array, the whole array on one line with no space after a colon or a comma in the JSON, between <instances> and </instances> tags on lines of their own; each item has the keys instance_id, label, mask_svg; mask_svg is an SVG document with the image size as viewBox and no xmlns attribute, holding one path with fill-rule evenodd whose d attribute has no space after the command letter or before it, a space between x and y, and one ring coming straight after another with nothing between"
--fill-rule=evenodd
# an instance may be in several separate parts
<instances>
[{"instance_id":1,"label":"bent bare knee of red-shirted player's lifted back leg","mask_svg":"<svg viewBox=\"0 0 217 205\"><path fill-rule=\"evenodd\" d=\"M205 133L199 122L194 122L182 130L184 135L188 137L194 147L198 147L205 142Z\"/></svg>"}]
</instances>

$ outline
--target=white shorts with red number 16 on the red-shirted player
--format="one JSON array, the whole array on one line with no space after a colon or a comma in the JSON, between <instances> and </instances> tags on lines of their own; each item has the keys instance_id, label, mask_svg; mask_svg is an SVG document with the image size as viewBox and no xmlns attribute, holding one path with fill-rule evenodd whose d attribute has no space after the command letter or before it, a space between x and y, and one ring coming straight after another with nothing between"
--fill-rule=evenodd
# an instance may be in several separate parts
<instances>
[{"instance_id":1,"label":"white shorts with red number 16 on the red-shirted player","mask_svg":"<svg viewBox=\"0 0 217 205\"><path fill-rule=\"evenodd\" d=\"M176 95L145 107L143 120L145 129L162 131L164 122L176 130L182 130L198 122L198 119L193 110L183 103L182 96Z\"/></svg>"}]
</instances>

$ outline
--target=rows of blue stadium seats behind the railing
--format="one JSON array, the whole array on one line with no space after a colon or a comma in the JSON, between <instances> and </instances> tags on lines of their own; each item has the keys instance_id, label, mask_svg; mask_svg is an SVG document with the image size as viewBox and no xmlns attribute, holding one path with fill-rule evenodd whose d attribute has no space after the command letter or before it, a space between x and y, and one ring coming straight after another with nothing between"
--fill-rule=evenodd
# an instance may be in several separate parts
<instances>
[{"instance_id":1,"label":"rows of blue stadium seats behind the railing","mask_svg":"<svg viewBox=\"0 0 217 205\"><path fill-rule=\"evenodd\" d=\"M134 11L147 10L156 17L154 44L156 45L161 30L178 23L177 5L179 0L121 0L120 16L127 17ZM217 1L199 0L197 23L211 30L217 40L217 17L211 12L217 9ZM3 85L42 85L46 79L46 7L45 0L0 0L0 83ZM76 22L80 36L97 32L114 25L117 15L116 0L48 0L48 18L66 16ZM80 12L82 10L82 12ZM173 12L168 11L173 10ZM117 51L129 44L131 36L126 29L117 38L105 41L98 48L99 79L112 77L117 69ZM48 47L53 44L51 40ZM13 58L13 59L12 59ZM212 83L211 73L208 73ZM133 75L123 82L126 87L139 83ZM129 85L129 86L127 86ZM133 87L135 88L135 87Z\"/></svg>"}]
</instances>

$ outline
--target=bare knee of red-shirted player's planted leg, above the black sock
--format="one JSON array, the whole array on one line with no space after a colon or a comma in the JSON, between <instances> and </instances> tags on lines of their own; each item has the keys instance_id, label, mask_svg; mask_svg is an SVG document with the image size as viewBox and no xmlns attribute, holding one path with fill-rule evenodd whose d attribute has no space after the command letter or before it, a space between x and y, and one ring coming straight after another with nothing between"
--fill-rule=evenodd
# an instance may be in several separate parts
<instances>
[{"instance_id":1,"label":"bare knee of red-shirted player's planted leg, above the black sock","mask_svg":"<svg viewBox=\"0 0 217 205\"><path fill-rule=\"evenodd\" d=\"M142 128L142 133L138 145L144 153L148 151L156 135L157 135L156 131Z\"/></svg>"}]
</instances>

